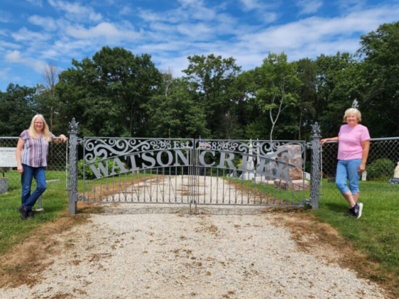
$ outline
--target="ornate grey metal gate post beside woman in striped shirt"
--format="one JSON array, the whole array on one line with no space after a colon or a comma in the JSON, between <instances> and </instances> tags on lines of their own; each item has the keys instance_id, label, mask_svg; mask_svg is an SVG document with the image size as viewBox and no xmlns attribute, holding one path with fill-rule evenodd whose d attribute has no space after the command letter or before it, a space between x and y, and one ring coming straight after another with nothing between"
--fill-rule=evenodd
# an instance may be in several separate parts
<instances>
[{"instance_id":1,"label":"ornate grey metal gate post beside woman in striped shirt","mask_svg":"<svg viewBox=\"0 0 399 299\"><path fill-rule=\"evenodd\" d=\"M78 133L78 124L75 121L75 118L72 119L72 122L69 122L69 213L76 214L76 202L78 198L78 189L77 189L77 133Z\"/></svg>"}]
</instances>

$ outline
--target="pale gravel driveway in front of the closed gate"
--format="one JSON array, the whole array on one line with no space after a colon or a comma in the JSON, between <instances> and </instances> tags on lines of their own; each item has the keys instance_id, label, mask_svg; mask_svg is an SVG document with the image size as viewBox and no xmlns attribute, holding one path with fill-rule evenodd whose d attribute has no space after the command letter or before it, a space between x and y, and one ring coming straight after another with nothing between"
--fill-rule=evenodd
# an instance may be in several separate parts
<instances>
[{"instance_id":1,"label":"pale gravel driveway in front of the closed gate","mask_svg":"<svg viewBox=\"0 0 399 299\"><path fill-rule=\"evenodd\" d=\"M384 298L300 250L281 215L187 209L108 204L57 236L60 254L36 285L0 289L0 298Z\"/></svg>"}]
</instances>

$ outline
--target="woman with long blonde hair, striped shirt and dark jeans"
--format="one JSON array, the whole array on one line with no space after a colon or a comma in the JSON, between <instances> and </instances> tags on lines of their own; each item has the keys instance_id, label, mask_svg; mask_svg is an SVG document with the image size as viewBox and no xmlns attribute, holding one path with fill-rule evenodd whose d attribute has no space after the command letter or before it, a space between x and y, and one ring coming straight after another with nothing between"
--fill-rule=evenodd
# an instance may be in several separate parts
<instances>
[{"instance_id":1,"label":"woman with long blonde hair, striped shirt and dark jeans","mask_svg":"<svg viewBox=\"0 0 399 299\"><path fill-rule=\"evenodd\" d=\"M67 138L61 134L55 137L41 114L36 114L30 122L30 127L24 130L18 139L15 156L17 171L21 174L22 196L18 211L21 219L33 217L32 207L39 196L46 190L47 152L49 142L66 142ZM36 180L36 190L30 194L32 178Z\"/></svg>"}]
</instances>

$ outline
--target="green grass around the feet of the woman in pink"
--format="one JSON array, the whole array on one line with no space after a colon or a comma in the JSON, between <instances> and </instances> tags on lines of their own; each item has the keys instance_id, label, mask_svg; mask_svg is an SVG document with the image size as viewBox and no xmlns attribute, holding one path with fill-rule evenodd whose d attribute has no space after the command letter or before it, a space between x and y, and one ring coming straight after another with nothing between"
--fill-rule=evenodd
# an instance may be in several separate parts
<instances>
[{"instance_id":1,"label":"green grass around the feet of the woman in pink","mask_svg":"<svg viewBox=\"0 0 399 299\"><path fill-rule=\"evenodd\" d=\"M364 207L360 219L343 216L349 205L334 183L323 180L322 190L319 209L313 213L372 261L399 277L399 185L361 181L359 202Z\"/></svg>"}]
</instances>

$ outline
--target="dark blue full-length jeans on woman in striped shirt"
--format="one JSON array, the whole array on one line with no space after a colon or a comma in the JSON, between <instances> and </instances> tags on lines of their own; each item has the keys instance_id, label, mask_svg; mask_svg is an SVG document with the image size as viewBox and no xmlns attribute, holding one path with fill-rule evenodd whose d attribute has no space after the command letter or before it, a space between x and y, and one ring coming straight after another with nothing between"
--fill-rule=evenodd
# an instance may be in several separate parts
<instances>
[{"instance_id":1,"label":"dark blue full-length jeans on woman in striped shirt","mask_svg":"<svg viewBox=\"0 0 399 299\"><path fill-rule=\"evenodd\" d=\"M22 206L27 210L31 210L36 203L37 198L46 190L46 173L44 167L31 167L22 164L23 172L21 175L22 184ZM32 186L32 178L36 180L36 190L30 194L30 187Z\"/></svg>"}]
</instances>

